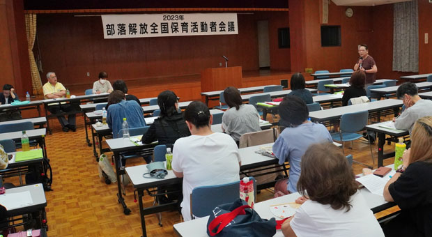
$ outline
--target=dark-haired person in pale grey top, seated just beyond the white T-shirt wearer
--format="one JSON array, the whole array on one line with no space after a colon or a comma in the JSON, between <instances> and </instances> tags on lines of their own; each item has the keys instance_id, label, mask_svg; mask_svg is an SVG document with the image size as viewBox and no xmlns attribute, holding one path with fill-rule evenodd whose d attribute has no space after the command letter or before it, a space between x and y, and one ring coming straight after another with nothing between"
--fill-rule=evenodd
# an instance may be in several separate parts
<instances>
[{"instance_id":1,"label":"dark-haired person in pale grey top, seated just beyond the white T-shirt wearer","mask_svg":"<svg viewBox=\"0 0 432 237\"><path fill-rule=\"evenodd\" d=\"M238 142L247 132L261 131L259 113L254 105L243 105L240 91L230 86L224 91L224 99L229 109L222 116L222 130Z\"/></svg>"}]
</instances>

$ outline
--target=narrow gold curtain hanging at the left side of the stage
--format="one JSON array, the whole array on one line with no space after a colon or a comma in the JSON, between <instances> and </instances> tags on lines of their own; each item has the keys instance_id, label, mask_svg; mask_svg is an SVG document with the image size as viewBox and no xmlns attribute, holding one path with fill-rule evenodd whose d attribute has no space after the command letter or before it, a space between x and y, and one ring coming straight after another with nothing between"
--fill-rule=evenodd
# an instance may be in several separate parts
<instances>
[{"instance_id":1,"label":"narrow gold curtain hanging at the left side of the stage","mask_svg":"<svg viewBox=\"0 0 432 237\"><path fill-rule=\"evenodd\" d=\"M40 80L38 66L36 66L35 56L33 54L33 45L36 38L36 14L26 14L25 16L33 95L41 95L43 94L42 81Z\"/></svg>"}]
</instances>

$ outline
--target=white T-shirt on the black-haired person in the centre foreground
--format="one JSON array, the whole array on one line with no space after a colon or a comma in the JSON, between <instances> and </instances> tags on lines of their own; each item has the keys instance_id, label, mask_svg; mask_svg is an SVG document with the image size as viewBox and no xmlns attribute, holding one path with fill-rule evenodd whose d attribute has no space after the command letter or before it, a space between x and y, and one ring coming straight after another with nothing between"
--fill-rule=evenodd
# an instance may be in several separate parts
<instances>
[{"instance_id":1,"label":"white T-shirt on the black-haired person in the centre foreground","mask_svg":"<svg viewBox=\"0 0 432 237\"><path fill-rule=\"evenodd\" d=\"M179 138L174 144L172 167L183 172L181 213L190 218L190 194L196 187L240 180L240 154L236 142L224 133ZM210 213L209 213L210 214Z\"/></svg>"}]
</instances>

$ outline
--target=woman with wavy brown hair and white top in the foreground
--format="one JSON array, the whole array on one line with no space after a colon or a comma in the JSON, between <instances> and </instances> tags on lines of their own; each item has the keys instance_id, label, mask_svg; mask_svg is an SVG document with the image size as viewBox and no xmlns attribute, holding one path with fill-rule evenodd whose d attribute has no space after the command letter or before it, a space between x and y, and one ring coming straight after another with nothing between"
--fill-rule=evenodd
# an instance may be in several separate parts
<instances>
[{"instance_id":1,"label":"woman with wavy brown hair and white top in the foreground","mask_svg":"<svg viewBox=\"0 0 432 237\"><path fill-rule=\"evenodd\" d=\"M312 144L301 165L297 187L303 197L295 202L302 206L282 224L284 236L384 236L339 148Z\"/></svg>"}]
</instances>

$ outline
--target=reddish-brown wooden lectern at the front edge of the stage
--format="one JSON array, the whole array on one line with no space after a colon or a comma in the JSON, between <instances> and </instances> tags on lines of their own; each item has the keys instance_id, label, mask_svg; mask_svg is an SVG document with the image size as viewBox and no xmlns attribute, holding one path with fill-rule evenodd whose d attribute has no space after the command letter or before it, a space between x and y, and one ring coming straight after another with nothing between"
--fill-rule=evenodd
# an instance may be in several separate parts
<instances>
[{"instance_id":1,"label":"reddish-brown wooden lectern at the front edge of the stage","mask_svg":"<svg viewBox=\"0 0 432 237\"><path fill-rule=\"evenodd\" d=\"M242 67L206 68L201 72L201 91L219 91L228 86L242 87Z\"/></svg>"}]
</instances>

